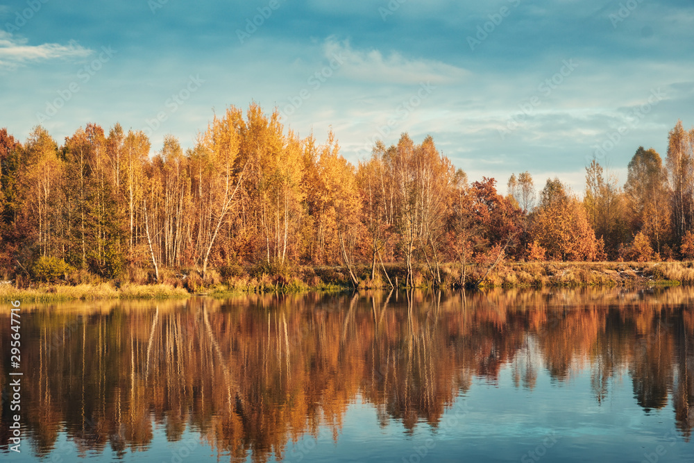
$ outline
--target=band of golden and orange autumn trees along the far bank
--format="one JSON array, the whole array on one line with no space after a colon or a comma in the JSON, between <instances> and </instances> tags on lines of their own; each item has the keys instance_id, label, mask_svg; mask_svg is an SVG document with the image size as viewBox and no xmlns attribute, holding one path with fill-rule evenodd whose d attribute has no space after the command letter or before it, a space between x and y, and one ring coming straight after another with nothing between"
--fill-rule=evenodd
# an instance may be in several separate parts
<instances>
[{"instance_id":1,"label":"band of golden and orange autumn trees along the far bank","mask_svg":"<svg viewBox=\"0 0 694 463\"><path fill-rule=\"evenodd\" d=\"M663 134L663 137L665 134ZM150 155L151 152L154 155ZM432 137L348 162L334 133L300 138L252 103L214 115L192 149L87 124L62 144L0 130L0 275L215 283L339 267L355 287L475 285L502 262L694 258L694 128L665 159L639 147L624 184L593 159L582 195L525 171L500 194ZM393 268L400 268L395 281Z\"/></svg>"}]
</instances>

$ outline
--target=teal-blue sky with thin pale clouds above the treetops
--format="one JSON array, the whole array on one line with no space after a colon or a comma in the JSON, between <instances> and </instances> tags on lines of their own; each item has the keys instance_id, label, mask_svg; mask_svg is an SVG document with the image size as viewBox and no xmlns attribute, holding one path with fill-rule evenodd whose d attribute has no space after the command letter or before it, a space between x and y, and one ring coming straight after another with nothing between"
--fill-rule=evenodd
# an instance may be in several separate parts
<instances>
[{"instance_id":1,"label":"teal-blue sky with thin pale clouds above the treetops","mask_svg":"<svg viewBox=\"0 0 694 463\"><path fill-rule=\"evenodd\" d=\"M694 124L691 0L3 0L0 127L142 130L191 147L215 112L278 108L350 162L434 137L471 180L626 180Z\"/></svg>"}]
</instances>

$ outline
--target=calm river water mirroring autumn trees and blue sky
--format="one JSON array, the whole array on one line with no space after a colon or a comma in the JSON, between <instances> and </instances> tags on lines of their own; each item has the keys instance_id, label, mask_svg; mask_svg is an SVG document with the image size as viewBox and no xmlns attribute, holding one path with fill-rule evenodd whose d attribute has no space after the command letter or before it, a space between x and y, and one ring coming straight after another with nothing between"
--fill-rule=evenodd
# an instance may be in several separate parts
<instances>
[{"instance_id":1,"label":"calm river water mirroring autumn trees and blue sky","mask_svg":"<svg viewBox=\"0 0 694 463\"><path fill-rule=\"evenodd\" d=\"M694 460L694 289L22 306L29 462ZM3 399L9 310L0 315Z\"/></svg>"}]
</instances>

